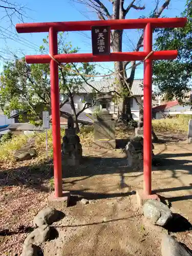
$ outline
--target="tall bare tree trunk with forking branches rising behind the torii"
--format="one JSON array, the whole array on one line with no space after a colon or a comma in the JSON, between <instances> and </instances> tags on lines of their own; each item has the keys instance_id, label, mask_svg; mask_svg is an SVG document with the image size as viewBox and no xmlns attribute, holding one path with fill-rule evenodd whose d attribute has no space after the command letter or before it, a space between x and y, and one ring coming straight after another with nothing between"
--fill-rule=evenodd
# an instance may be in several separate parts
<instances>
[{"instance_id":1,"label":"tall bare tree trunk with forking branches rising behind the torii","mask_svg":"<svg viewBox=\"0 0 192 256\"><path fill-rule=\"evenodd\" d=\"M144 10L145 6L140 5L140 1L136 0L130 0L130 3L126 6L125 8L125 1L124 0L109 0L112 5L113 5L113 13L110 14L109 10L106 8L106 6L103 4L105 1L103 0L73 0L75 2L79 2L81 4L86 5L87 7L91 7L92 10L94 10L99 19L106 20L106 19L125 19L125 16L131 9L135 10ZM150 2L150 1L148 1ZM158 18L162 12L164 11L165 8L168 7L170 0L164 0L163 5L159 8L158 10L158 5L159 5L159 0L156 1L156 6L154 10L152 11L151 17L156 17ZM149 3L150 4L150 3ZM111 47L114 52L122 52L122 35L123 31L122 30L114 30L111 33ZM143 43L143 33L140 36L137 45L135 47L135 51L139 51L140 48L142 47ZM134 77L135 77L135 61L131 61L132 63L132 69L131 69L131 75L129 78L127 78L126 75L126 66L130 62L124 61L124 62L115 62L115 73L116 73L116 79L118 81L118 86L120 90L123 90L127 92L125 97L122 99L122 101L119 103L119 114L124 115L126 118L130 116L132 118L131 114L131 108L129 104L129 98L126 98L129 96ZM126 87L125 83L126 81ZM129 87L129 89L127 88Z\"/></svg>"}]
</instances>

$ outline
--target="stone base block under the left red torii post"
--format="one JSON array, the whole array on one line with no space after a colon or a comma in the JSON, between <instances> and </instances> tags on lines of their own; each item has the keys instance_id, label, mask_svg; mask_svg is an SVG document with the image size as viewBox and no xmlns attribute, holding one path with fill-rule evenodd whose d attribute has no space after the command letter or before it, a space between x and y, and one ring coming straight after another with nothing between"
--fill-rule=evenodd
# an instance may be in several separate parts
<instances>
[{"instance_id":1,"label":"stone base block under the left red torii post","mask_svg":"<svg viewBox=\"0 0 192 256\"><path fill-rule=\"evenodd\" d=\"M57 208L65 208L69 205L70 191L62 191L62 197L55 197L54 191L48 197L48 205Z\"/></svg>"}]
</instances>

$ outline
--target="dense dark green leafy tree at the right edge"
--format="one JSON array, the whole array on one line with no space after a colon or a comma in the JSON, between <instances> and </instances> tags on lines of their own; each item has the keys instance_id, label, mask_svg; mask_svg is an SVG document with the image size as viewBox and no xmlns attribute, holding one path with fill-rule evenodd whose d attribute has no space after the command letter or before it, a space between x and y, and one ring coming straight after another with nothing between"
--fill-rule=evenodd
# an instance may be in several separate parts
<instances>
[{"instance_id":1,"label":"dense dark green leafy tree at the right edge","mask_svg":"<svg viewBox=\"0 0 192 256\"><path fill-rule=\"evenodd\" d=\"M154 85L157 94L164 99L178 99L185 103L185 93L191 90L192 75L192 1L187 0L186 9L181 13L187 17L184 28L163 29L158 31L155 50L178 50L175 60L154 62ZM189 102L187 102L188 104Z\"/></svg>"}]
</instances>

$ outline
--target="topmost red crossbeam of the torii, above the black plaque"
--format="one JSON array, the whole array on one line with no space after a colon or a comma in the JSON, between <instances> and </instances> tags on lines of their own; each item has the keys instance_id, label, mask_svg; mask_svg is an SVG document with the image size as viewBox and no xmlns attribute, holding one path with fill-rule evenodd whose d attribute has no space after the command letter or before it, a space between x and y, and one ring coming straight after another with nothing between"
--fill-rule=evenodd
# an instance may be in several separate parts
<instances>
[{"instance_id":1,"label":"topmost red crossbeam of the torii, above the black plaque","mask_svg":"<svg viewBox=\"0 0 192 256\"><path fill-rule=\"evenodd\" d=\"M152 28L179 28L186 24L186 18L139 18L91 20L84 22L45 22L16 24L18 33L49 32L52 27L58 31L89 31L92 26L110 26L111 29L144 29L147 23Z\"/></svg>"}]
</instances>

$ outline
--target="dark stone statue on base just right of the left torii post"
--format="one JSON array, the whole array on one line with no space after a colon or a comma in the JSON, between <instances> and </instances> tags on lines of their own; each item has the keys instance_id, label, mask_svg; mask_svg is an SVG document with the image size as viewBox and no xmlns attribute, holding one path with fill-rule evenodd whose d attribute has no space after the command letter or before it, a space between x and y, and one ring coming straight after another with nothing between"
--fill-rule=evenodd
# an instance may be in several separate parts
<instances>
[{"instance_id":1,"label":"dark stone statue on base just right of the left torii post","mask_svg":"<svg viewBox=\"0 0 192 256\"><path fill-rule=\"evenodd\" d=\"M68 118L68 128L65 129L66 135L62 138L62 159L66 165L79 165L82 158L82 146L79 136L76 135L73 118Z\"/></svg>"}]
</instances>

